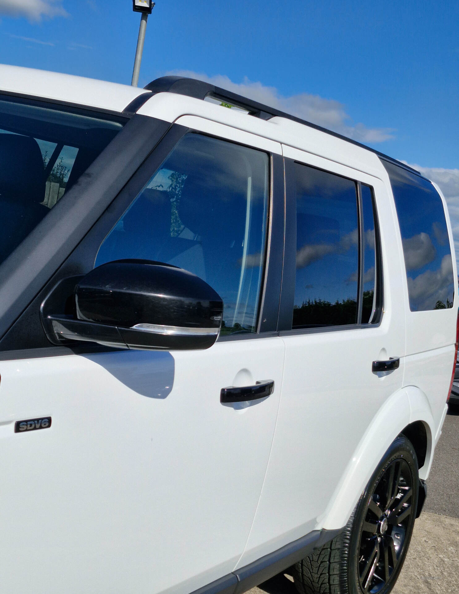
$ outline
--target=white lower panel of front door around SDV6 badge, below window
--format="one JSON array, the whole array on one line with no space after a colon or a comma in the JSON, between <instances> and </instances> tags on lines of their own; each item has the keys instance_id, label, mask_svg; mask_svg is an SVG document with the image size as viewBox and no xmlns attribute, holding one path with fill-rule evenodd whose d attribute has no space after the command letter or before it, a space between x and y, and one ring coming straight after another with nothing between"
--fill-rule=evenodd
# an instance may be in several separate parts
<instances>
[{"instance_id":1,"label":"white lower panel of front door around SDV6 badge, below window","mask_svg":"<svg viewBox=\"0 0 459 594\"><path fill-rule=\"evenodd\" d=\"M191 592L242 554L276 422L280 338L0 364L0 579L37 594ZM222 405L220 389L274 380ZM51 416L41 431L15 421Z\"/></svg>"}]
</instances>

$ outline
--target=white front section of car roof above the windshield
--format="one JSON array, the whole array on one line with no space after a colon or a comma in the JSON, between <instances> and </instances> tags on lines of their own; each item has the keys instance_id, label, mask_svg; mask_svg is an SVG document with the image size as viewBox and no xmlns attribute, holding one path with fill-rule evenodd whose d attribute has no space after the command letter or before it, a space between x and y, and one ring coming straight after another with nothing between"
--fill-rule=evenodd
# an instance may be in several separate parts
<instances>
[{"instance_id":1,"label":"white front section of car roof above the windshield","mask_svg":"<svg viewBox=\"0 0 459 594\"><path fill-rule=\"evenodd\" d=\"M0 64L0 90L122 112L144 89L94 78Z\"/></svg>"}]
</instances>

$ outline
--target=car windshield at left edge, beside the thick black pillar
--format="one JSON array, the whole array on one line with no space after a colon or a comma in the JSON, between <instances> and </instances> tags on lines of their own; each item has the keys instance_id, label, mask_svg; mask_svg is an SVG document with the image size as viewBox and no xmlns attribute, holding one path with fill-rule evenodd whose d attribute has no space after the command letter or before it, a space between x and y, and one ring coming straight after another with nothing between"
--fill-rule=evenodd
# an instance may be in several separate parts
<instances>
[{"instance_id":1,"label":"car windshield at left edge, beside the thick black pillar","mask_svg":"<svg viewBox=\"0 0 459 594\"><path fill-rule=\"evenodd\" d=\"M0 264L124 123L89 110L0 97Z\"/></svg>"}]
</instances>

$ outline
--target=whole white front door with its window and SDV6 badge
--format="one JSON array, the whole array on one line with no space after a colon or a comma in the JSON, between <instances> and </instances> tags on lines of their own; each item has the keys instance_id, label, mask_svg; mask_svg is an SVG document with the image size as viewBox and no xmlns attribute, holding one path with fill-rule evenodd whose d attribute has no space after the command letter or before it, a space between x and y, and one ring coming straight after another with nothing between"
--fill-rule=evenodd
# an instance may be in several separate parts
<instances>
[{"instance_id":1,"label":"whole white front door with its window and SDV6 badge","mask_svg":"<svg viewBox=\"0 0 459 594\"><path fill-rule=\"evenodd\" d=\"M166 160L143 166L141 191L125 189L67 266L147 258L191 270L223 298L221 338L195 352L3 353L5 591L34 576L36 593L185 593L229 574L243 552L283 375L284 342L270 332L281 147L197 118L182 126ZM221 388L268 380L269 397L220 402ZM14 431L43 416L45 429Z\"/></svg>"}]
</instances>

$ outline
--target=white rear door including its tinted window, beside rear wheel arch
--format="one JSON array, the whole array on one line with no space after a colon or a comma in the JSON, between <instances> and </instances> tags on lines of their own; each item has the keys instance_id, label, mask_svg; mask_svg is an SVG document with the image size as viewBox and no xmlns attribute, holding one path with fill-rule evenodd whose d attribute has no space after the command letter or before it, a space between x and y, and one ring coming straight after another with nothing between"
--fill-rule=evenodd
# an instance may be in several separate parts
<instances>
[{"instance_id":1,"label":"white rear door including its tinted window, beside rear wheel arch","mask_svg":"<svg viewBox=\"0 0 459 594\"><path fill-rule=\"evenodd\" d=\"M241 564L263 541L282 546L322 527L357 444L403 379L401 262L385 185L290 147L284 155L284 381ZM372 371L391 357L397 369Z\"/></svg>"}]
</instances>

